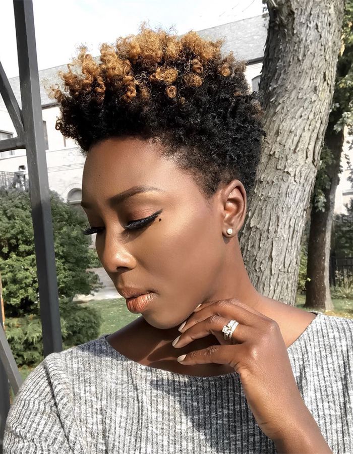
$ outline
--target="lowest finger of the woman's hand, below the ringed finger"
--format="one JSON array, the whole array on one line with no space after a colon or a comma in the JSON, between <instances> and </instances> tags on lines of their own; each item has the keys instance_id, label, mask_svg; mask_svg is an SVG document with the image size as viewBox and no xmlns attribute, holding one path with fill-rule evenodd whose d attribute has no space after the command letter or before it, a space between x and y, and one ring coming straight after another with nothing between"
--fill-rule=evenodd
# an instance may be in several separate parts
<instances>
[{"instance_id":1,"label":"lowest finger of the woman's hand, below the ringed finger","mask_svg":"<svg viewBox=\"0 0 353 454\"><path fill-rule=\"evenodd\" d=\"M206 349L194 350L181 355L178 361L182 364L230 364L235 368L244 355L244 344L239 345L211 345ZM237 372L238 373L238 372Z\"/></svg>"}]
</instances>

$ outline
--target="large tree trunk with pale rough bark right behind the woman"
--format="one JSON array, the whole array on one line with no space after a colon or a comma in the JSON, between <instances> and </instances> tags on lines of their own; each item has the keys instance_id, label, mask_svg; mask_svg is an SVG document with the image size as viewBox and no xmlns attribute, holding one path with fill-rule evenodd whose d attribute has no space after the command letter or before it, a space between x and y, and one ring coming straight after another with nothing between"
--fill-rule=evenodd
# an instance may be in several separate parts
<instances>
[{"instance_id":1,"label":"large tree trunk with pale rough bark right behind the woman","mask_svg":"<svg viewBox=\"0 0 353 454\"><path fill-rule=\"evenodd\" d=\"M300 250L340 48L343 0L268 0L264 142L240 238L259 293L295 305Z\"/></svg>"}]
</instances>

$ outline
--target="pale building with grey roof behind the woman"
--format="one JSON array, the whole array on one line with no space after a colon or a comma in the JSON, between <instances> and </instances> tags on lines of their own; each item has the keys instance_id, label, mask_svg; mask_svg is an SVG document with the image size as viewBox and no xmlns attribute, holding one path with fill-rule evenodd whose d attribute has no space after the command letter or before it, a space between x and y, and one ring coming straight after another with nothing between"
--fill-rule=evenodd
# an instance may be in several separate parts
<instances>
[{"instance_id":1,"label":"pale building with grey roof behind the woman","mask_svg":"<svg viewBox=\"0 0 353 454\"><path fill-rule=\"evenodd\" d=\"M255 16L241 21L199 30L205 38L216 40L223 38L224 52L232 50L236 58L247 61L246 78L251 90L257 90L264 56L267 37L268 17ZM39 71L40 95L42 103L43 129L46 143L46 160L48 168L49 188L56 191L65 201L76 206L81 202L82 172L85 158L76 143L65 139L55 130L56 117L60 116L58 106L47 96L45 86L56 81L58 71L67 71L67 66L57 66ZM10 85L21 107L20 82L18 77L9 79ZM7 112L5 103L0 96L0 140L16 136L15 128ZM345 144L345 153L353 161L353 150ZM344 153L343 153L344 155ZM347 180L348 163L342 155L343 173L335 199L335 212L345 212L344 203L353 196L353 188ZM22 167L21 167L22 166ZM23 167L24 166L24 167ZM21 167L21 168L20 168ZM27 159L25 150L12 150L0 153L0 184L1 181L13 178L15 172L26 174Z\"/></svg>"}]
</instances>

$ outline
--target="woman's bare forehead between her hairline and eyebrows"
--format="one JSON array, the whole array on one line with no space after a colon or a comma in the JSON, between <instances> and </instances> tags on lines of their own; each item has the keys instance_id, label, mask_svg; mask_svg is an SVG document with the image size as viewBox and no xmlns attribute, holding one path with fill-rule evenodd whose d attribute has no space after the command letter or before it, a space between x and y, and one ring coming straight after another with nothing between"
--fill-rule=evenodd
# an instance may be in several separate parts
<instances>
[{"instance_id":1,"label":"woman's bare forehead between her hairline and eyebrows","mask_svg":"<svg viewBox=\"0 0 353 454\"><path fill-rule=\"evenodd\" d=\"M90 148L82 177L84 198L97 191L108 196L138 185L196 189L191 176L162 156L161 145L151 141L109 138Z\"/></svg>"}]
</instances>

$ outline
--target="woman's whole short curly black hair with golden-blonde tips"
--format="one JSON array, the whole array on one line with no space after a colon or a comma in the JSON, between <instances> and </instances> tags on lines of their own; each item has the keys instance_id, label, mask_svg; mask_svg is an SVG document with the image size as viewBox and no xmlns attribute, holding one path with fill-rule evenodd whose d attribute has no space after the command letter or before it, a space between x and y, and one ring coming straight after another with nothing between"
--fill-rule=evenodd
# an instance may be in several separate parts
<instances>
[{"instance_id":1,"label":"woman's whole short curly black hair with golden-blonde tips","mask_svg":"<svg viewBox=\"0 0 353 454\"><path fill-rule=\"evenodd\" d=\"M50 87L61 111L55 129L84 156L109 137L155 138L205 196L233 179L248 193L265 135L262 110L249 92L246 63L232 52L222 56L222 42L143 23L115 46L101 44L99 61L81 45L69 71L58 73L64 89Z\"/></svg>"}]
</instances>

